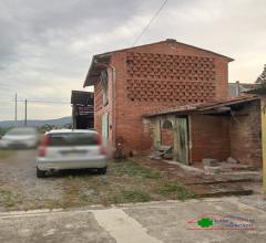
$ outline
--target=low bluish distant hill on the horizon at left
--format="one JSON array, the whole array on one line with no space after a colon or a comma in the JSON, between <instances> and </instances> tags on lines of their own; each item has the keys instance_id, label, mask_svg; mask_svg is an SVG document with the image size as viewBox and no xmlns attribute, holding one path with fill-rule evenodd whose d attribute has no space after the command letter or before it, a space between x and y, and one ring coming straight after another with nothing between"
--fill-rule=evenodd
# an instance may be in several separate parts
<instances>
[{"instance_id":1,"label":"low bluish distant hill on the horizon at left","mask_svg":"<svg viewBox=\"0 0 266 243\"><path fill-rule=\"evenodd\" d=\"M65 124L71 124L71 117L62 117L62 118L58 118L58 119L47 119L47 120L29 119L27 122L28 126L37 126L37 127L41 127L45 124L51 125L51 126L62 126ZM13 125L14 125L13 120L0 122L0 127L11 127ZM18 126L23 126L23 125L24 125L24 120L18 120Z\"/></svg>"}]
</instances>

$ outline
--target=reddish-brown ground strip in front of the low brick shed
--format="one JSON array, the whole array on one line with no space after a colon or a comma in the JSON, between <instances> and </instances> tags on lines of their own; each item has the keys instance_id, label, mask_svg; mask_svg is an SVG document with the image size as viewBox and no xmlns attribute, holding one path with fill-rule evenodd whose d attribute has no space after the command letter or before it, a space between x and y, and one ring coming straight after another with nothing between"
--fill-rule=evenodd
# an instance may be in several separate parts
<instances>
[{"instance_id":1,"label":"reddish-brown ground strip in front of the low brick shed","mask_svg":"<svg viewBox=\"0 0 266 243\"><path fill-rule=\"evenodd\" d=\"M195 167L183 166L176 161L154 160L147 156L131 158L146 169L163 171L168 177L187 186L197 197L248 196L263 192L263 173L259 170L238 168L209 173Z\"/></svg>"}]
</instances>

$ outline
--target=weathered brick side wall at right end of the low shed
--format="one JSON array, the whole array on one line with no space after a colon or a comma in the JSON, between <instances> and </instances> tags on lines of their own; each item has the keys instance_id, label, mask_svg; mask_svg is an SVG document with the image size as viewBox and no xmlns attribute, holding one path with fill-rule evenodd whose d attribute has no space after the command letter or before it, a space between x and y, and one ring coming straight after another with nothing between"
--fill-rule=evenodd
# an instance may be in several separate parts
<instances>
[{"instance_id":1,"label":"weathered brick side wall at right end of the low shed","mask_svg":"<svg viewBox=\"0 0 266 243\"><path fill-rule=\"evenodd\" d=\"M231 120L231 156L241 163L262 167L262 122L259 102L234 113Z\"/></svg>"}]
</instances>

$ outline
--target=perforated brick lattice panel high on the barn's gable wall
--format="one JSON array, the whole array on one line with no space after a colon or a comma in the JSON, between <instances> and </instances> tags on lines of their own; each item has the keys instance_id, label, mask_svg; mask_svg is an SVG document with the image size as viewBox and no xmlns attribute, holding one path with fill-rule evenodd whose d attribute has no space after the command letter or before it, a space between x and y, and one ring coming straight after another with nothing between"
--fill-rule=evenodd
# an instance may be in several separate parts
<instances>
[{"instance_id":1,"label":"perforated brick lattice panel high on the barn's gable wall","mask_svg":"<svg viewBox=\"0 0 266 243\"><path fill-rule=\"evenodd\" d=\"M126 63L132 102L198 103L215 97L212 57L131 52Z\"/></svg>"}]
</instances>

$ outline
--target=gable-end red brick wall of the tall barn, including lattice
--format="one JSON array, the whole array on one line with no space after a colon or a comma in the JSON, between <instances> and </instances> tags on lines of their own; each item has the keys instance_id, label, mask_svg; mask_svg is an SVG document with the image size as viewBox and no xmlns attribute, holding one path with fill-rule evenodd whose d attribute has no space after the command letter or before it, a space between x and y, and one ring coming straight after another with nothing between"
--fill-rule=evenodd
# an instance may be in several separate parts
<instances>
[{"instance_id":1,"label":"gable-end red brick wall of the tall barn, including lattice","mask_svg":"<svg viewBox=\"0 0 266 243\"><path fill-rule=\"evenodd\" d=\"M124 139L125 151L152 147L151 133L143 133L144 113L227 97L227 62L213 53L171 42L114 53L113 126L115 137ZM96 129L99 119L96 113Z\"/></svg>"}]
</instances>

